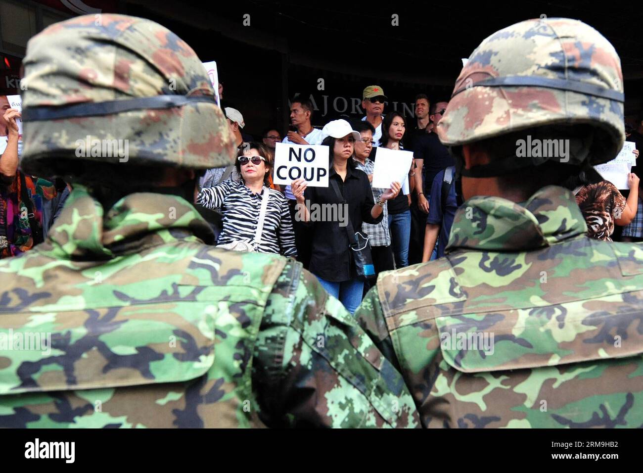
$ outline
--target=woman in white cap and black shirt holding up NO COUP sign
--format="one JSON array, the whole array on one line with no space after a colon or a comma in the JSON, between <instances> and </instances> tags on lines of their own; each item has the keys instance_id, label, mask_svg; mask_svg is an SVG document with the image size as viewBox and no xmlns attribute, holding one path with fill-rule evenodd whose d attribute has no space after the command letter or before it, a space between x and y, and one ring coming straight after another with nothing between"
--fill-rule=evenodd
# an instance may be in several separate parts
<instances>
[{"instance_id":1,"label":"woman in white cap and black shirt holding up NO COUP sign","mask_svg":"<svg viewBox=\"0 0 643 473\"><path fill-rule=\"evenodd\" d=\"M375 203L367 175L356 169L351 159L359 133L346 120L333 120L322 132L325 138L321 144L330 148L329 187L307 188L305 181L298 179L293 181L292 189L298 203L298 218L312 227L309 270L331 295L354 313L362 299L364 279L358 275L356 252L350 247L354 239L349 239L347 225L350 220L350 226L359 230L362 222L379 223L383 203L397 196L400 184L394 182Z\"/></svg>"}]
</instances>

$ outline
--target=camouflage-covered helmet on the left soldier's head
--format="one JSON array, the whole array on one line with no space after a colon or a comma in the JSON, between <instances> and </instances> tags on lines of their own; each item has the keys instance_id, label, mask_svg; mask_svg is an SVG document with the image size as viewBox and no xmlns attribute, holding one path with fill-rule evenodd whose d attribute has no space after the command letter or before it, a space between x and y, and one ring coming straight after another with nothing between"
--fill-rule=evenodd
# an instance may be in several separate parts
<instances>
[{"instance_id":1,"label":"camouflage-covered helmet on the left soldier's head","mask_svg":"<svg viewBox=\"0 0 643 473\"><path fill-rule=\"evenodd\" d=\"M23 84L26 172L56 174L61 158L71 169L77 160L191 169L234 162L201 60L153 21L103 14L53 24L28 42Z\"/></svg>"}]
</instances>

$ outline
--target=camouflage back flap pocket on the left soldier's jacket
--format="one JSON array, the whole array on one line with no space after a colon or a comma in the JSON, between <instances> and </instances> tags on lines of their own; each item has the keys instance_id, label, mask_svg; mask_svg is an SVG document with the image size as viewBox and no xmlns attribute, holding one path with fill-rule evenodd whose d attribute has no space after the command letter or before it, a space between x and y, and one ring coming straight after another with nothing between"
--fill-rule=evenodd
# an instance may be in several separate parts
<instances>
[{"instance_id":1,"label":"camouflage back flap pocket on the left soldier's jacket","mask_svg":"<svg viewBox=\"0 0 643 473\"><path fill-rule=\"evenodd\" d=\"M5 317L0 394L183 382L203 375L214 362L212 312L207 304L190 302L189 310L179 304L165 310L143 304L60 312L53 322L41 317L40 326L24 324L24 314ZM12 328L12 319L23 324Z\"/></svg>"}]
</instances>

